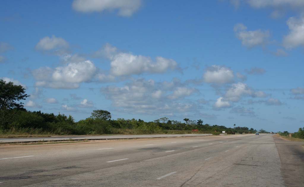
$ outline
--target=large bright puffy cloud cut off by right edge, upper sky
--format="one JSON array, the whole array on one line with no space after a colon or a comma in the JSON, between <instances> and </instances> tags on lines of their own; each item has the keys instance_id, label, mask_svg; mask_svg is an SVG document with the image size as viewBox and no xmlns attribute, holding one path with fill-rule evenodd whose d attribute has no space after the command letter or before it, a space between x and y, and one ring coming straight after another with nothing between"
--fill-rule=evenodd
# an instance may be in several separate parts
<instances>
[{"instance_id":1,"label":"large bright puffy cloud cut off by right edge, upper sky","mask_svg":"<svg viewBox=\"0 0 304 187\"><path fill-rule=\"evenodd\" d=\"M303 1L304 2L304 1ZM287 20L289 34L284 36L283 45L285 48L294 48L304 45L304 16L296 19L291 17Z\"/></svg>"}]
</instances>

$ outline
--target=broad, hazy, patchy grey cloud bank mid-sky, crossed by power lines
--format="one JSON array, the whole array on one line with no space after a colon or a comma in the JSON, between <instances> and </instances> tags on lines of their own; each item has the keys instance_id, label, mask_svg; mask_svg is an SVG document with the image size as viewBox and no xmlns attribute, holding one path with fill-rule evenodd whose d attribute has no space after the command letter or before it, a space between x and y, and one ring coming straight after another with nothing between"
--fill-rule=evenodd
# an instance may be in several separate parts
<instances>
[{"instance_id":1,"label":"broad, hazy, patchy grey cloud bank mid-sky, crossed by power lines","mask_svg":"<svg viewBox=\"0 0 304 187\"><path fill-rule=\"evenodd\" d=\"M139 78L121 87L108 86L101 89L101 93L112 101L112 105L120 112L163 115L198 110L197 103L183 100L194 89L175 87L178 82L174 81L172 84L169 84L168 89L163 82Z\"/></svg>"}]
</instances>

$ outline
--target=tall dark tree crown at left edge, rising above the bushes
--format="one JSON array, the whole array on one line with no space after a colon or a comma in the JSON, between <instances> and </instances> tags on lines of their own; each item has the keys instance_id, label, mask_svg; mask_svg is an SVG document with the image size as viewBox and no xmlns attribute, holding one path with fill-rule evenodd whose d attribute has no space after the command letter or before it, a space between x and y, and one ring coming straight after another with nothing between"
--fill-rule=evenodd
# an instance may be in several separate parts
<instances>
[{"instance_id":1,"label":"tall dark tree crown at left edge, rising above the bushes","mask_svg":"<svg viewBox=\"0 0 304 187\"><path fill-rule=\"evenodd\" d=\"M29 95L25 94L25 88L14 85L13 82L0 80L0 110L22 108L24 103L17 101L25 100Z\"/></svg>"}]
</instances>

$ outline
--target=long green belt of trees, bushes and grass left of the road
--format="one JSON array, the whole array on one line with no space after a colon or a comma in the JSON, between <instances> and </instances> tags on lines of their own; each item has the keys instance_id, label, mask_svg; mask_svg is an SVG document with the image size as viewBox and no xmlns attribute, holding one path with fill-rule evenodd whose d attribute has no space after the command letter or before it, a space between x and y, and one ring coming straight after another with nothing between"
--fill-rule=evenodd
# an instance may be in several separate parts
<instances>
[{"instance_id":1,"label":"long green belt of trees, bushes and grass left of the road","mask_svg":"<svg viewBox=\"0 0 304 187\"><path fill-rule=\"evenodd\" d=\"M23 108L22 100L29 95L21 85L13 85L0 80L0 137L32 136L32 135L99 135L99 134L155 134L155 133L212 133L219 135L254 133L257 130L240 127L233 128L222 125L203 124L202 119L183 122L162 117L145 122L141 119L111 119L106 110L94 110L87 119L75 122L72 116L58 113L28 111ZM193 130L197 131L193 131Z\"/></svg>"}]
</instances>

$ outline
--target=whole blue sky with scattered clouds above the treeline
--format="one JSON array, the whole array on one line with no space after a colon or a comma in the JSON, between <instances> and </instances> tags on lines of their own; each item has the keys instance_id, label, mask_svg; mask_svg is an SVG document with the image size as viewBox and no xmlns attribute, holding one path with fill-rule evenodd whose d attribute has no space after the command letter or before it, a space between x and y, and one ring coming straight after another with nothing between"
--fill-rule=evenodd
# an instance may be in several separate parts
<instances>
[{"instance_id":1,"label":"whole blue sky with scattered clouds above the treeline","mask_svg":"<svg viewBox=\"0 0 304 187\"><path fill-rule=\"evenodd\" d=\"M1 1L0 79L76 121L304 126L304 1Z\"/></svg>"}]
</instances>

